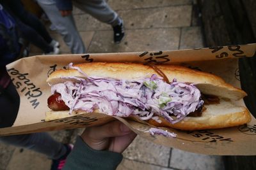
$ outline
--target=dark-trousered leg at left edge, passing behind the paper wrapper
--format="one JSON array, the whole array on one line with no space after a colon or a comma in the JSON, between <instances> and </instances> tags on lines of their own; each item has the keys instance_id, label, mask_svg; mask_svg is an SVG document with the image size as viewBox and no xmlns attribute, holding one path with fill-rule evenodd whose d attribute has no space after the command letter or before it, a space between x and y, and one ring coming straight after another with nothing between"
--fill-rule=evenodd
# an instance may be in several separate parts
<instances>
[{"instance_id":1,"label":"dark-trousered leg at left edge, passing behind the paper wrapper","mask_svg":"<svg viewBox=\"0 0 256 170\"><path fill-rule=\"evenodd\" d=\"M0 128L10 127L15 122L20 104L19 94L12 81L1 90L0 101ZM51 159L58 159L67 152L63 144L52 139L47 133L1 136L0 141L44 153Z\"/></svg>"}]
</instances>

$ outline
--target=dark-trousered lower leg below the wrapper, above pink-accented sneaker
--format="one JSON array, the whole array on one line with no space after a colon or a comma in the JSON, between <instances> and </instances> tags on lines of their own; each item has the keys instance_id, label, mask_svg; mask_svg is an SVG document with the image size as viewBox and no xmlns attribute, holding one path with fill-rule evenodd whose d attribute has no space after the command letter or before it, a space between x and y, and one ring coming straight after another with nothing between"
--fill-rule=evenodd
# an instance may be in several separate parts
<instances>
[{"instance_id":1,"label":"dark-trousered lower leg below the wrapper, above pink-accented sneaker","mask_svg":"<svg viewBox=\"0 0 256 170\"><path fill-rule=\"evenodd\" d=\"M47 133L1 136L0 141L6 144L19 146L33 150L35 152L43 153L51 159L59 159L67 152L65 145L55 141Z\"/></svg>"}]
</instances>

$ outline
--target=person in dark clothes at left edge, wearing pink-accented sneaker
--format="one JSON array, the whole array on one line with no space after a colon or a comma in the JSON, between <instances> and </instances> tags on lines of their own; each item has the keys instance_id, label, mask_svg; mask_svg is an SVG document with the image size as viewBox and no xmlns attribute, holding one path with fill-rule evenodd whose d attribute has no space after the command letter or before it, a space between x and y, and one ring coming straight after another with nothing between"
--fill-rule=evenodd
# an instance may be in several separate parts
<instances>
[{"instance_id":1,"label":"person in dark clothes at left edge, wearing pink-accented sneaker","mask_svg":"<svg viewBox=\"0 0 256 170\"><path fill-rule=\"evenodd\" d=\"M0 4L0 128L12 126L19 111L20 97L5 66L17 59L20 48L16 22ZM52 170L61 169L72 150L72 145L55 141L47 133L1 136L0 141L47 155Z\"/></svg>"}]
</instances>

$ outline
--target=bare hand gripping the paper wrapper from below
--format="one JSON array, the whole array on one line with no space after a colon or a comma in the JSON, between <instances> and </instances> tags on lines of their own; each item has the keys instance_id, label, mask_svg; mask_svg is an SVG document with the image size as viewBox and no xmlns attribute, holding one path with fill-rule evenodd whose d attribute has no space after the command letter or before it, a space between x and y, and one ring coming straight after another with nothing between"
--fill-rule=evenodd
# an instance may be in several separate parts
<instances>
[{"instance_id":1,"label":"bare hand gripping the paper wrapper from below","mask_svg":"<svg viewBox=\"0 0 256 170\"><path fill-rule=\"evenodd\" d=\"M125 124L116 120L97 127L87 127L81 138L94 150L122 153L136 137Z\"/></svg>"}]
</instances>

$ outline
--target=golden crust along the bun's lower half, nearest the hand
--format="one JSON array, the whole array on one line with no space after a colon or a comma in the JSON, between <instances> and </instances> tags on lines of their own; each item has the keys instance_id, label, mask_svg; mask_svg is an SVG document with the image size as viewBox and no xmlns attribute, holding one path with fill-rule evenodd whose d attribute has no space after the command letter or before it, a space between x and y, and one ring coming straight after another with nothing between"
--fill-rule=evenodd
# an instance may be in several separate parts
<instances>
[{"instance_id":1,"label":"golden crust along the bun's lower half, nearest the hand","mask_svg":"<svg viewBox=\"0 0 256 170\"><path fill-rule=\"evenodd\" d=\"M75 115L81 115L87 113L86 111L73 111L69 114L69 111L47 111L45 121L56 120L60 118L72 117ZM99 113L98 111L93 111L93 113ZM136 120L133 119L133 120ZM224 127L232 127L236 125L243 125L251 120L249 111L244 108L243 111L236 113L227 114L217 114L217 115L205 115L204 117L186 117L184 120L176 123L170 124L164 118L159 117L161 123L156 122L156 120L148 120L148 124L154 125L156 127L172 127L174 129L195 131L203 129L220 129ZM141 122L141 121L140 121Z\"/></svg>"}]
</instances>

